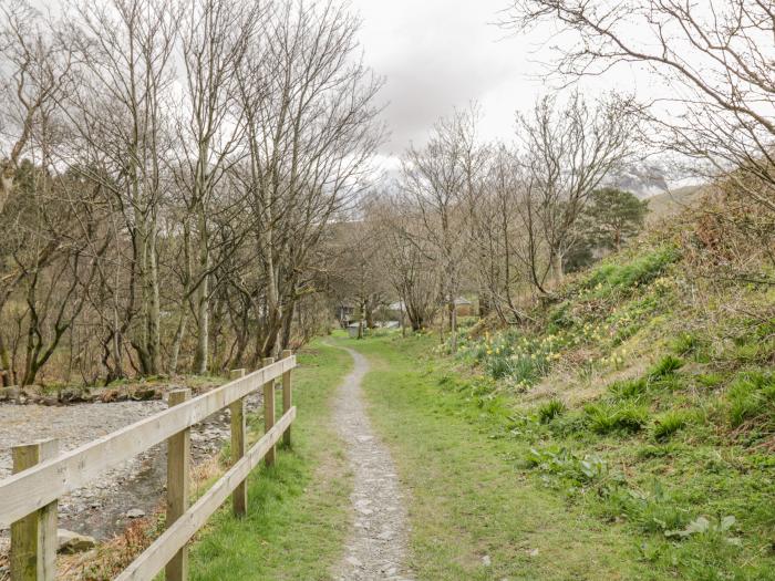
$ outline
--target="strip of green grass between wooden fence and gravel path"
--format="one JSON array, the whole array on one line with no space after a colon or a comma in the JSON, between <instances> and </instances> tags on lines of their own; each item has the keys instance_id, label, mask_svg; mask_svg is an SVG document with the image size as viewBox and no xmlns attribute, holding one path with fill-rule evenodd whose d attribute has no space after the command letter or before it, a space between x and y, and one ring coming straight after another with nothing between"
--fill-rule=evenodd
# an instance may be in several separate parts
<instances>
[{"instance_id":1,"label":"strip of green grass between wooden fence and gravel path","mask_svg":"<svg viewBox=\"0 0 775 581\"><path fill-rule=\"evenodd\" d=\"M350 481L342 445L329 424L330 400L350 356L320 342L299 355L292 450L254 470L248 515L221 508L190 551L193 580L327 580L350 526Z\"/></svg>"}]
</instances>

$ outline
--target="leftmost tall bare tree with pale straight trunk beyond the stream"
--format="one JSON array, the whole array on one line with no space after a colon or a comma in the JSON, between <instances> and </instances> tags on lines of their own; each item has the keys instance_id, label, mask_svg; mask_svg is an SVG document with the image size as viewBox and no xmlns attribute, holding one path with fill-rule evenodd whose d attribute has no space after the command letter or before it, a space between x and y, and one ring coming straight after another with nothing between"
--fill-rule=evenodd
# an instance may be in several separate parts
<instances>
[{"instance_id":1,"label":"leftmost tall bare tree with pale straight trunk beyond the stream","mask_svg":"<svg viewBox=\"0 0 775 581\"><path fill-rule=\"evenodd\" d=\"M80 64L79 87L63 103L78 136L69 160L101 183L131 237L124 262L131 290L114 290L124 297L124 317L138 315L131 343L144 374L162 370L158 220L170 183L164 172L172 141L165 105L176 22L162 0L84 0L73 8L68 30ZM113 332L125 326L118 323Z\"/></svg>"}]
</instances>

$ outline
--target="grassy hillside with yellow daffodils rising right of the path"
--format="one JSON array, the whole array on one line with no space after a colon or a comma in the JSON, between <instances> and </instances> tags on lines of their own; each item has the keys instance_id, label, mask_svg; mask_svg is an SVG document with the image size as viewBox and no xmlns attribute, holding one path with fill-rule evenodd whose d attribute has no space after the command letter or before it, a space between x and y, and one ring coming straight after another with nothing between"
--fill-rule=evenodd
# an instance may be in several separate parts
<instances>
[{"instance_id":1,"label":"grassy hillside with yellow daffodils rising right of the path","mask_svg":"<svg viewBox=\"0 0 775 581\"><path fill-rule=\"evenodd\" d=\"M525 324L474 326L452 388L529 444L519 474L624 523L655 578L772 579L773 268L722 280L701 224L569 280Z\"/></svg>"}]
</instances>

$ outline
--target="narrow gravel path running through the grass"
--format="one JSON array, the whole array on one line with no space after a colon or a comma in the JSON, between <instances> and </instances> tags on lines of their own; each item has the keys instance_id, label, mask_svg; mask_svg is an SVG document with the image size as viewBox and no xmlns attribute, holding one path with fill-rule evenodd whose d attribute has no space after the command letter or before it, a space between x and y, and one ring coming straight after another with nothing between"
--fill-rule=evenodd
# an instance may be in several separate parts
<instances>
[{"instance_id":1,"label":"narrow gravel path running through the grass","mask_svg":"<svg viewBox=\"0 0 775 581\"><path fill-rule=\"evenodd\" d=\"M340 581L405 580L407 525L403 496L393 460L372 432L361 396L361 380L369 363L360 353L345 351L355 367L339 390L333 419L347 443L354 475L354 529L334 577Z\"/></svg>"}]
</instances>

